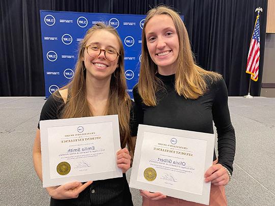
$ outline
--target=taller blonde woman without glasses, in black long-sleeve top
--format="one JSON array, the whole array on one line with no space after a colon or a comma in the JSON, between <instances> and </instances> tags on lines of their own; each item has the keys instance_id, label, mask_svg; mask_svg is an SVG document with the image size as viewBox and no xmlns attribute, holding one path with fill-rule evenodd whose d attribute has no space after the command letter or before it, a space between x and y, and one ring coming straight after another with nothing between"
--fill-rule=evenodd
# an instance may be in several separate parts
<instances>
[{"instance_id":1,"label":"taller blonde woman without glasses, in black long-sleeve top","mask_svg":"<svg viewBox=\"0 0 275 206\"><path fill-rule=\"evenodd\" d=\"M139 83L133 89L139 124L213 133L218 158L205 172L211 182L210 205L227 205L224 186L233 171L235 132L222 76L194 62L188 34L178 13L164 6L151 9L142 32ZM140 191L143 205L201 205L161 193Z\"/></svg>"}]
</instances>

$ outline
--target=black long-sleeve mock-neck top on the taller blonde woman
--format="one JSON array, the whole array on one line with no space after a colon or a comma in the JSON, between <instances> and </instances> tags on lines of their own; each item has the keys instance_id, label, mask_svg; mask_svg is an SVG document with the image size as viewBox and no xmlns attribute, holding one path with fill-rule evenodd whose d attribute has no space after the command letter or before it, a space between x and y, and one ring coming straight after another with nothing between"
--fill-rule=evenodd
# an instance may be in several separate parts
<instances>
[{"instance_id":1,"label":"black long-sleeve mock-neck top on the taller blonde woman","mask_svg":"<svg viewBox=\"0 0 275 206\"><path fill-rule=\"evenodd\" d=\"M134 116L138 124L168 127L213 134L213 121L217 129L218 163L233 171L235 131L228 109L228 92L223 79L206 80L207 92L196 100L179 96L175 91L175 75L156 74L164 89L156 93L156 106L146 106L133 88ZM207 79L207 78L206 78ZM214 152L213 160L216 160Z\"/></svg>"}]
</instances>

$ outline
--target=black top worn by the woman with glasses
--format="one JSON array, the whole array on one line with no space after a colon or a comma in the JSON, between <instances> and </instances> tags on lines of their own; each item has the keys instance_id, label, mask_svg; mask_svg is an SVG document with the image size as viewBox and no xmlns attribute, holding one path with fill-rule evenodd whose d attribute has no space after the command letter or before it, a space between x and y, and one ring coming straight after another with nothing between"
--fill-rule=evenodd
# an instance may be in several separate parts
<instances>
[{"instance_id":1,"label":"black top worn by the woman with glasses","mask_svg":"<svg viewBox=\"0 0 275 206\"><path fill-rule=\"evenodd\" d=\"M133 108L134 102L132 102ZM64 108L64 101L62 97L53 98L49 96L45 102L41 114L40 120L57 120L60 119L61 112ZM136 123L133 119L133 109L131 109L130 115L130 131L131 136L136 135ZM38 123L38 129L40 128ZM88 205L121 205L129 206L133 205L132 197L129 190L129 185L126 180L125 173L122 178L114 178L108 180L94 181L89 187L82 191L79 196L75 199L50 199L50 205L77 205L77 206L88 206Z\"/></svg>"}]
</instances>

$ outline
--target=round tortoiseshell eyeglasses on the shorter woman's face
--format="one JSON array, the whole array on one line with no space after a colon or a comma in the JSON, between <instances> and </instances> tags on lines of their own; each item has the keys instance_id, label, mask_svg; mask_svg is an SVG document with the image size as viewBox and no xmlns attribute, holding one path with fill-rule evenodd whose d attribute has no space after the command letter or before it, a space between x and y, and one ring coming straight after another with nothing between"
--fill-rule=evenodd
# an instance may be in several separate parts
<instances>
[{"instance_id":1,"label":"round tortoiseshell eyeglasses on the shorter woman's face","mask_svg":"<svg viewBox=\"0 0 275 206\"><path fill-rule=\"evenodd\" d=\"M91 57L98 57L102 51L104 51L104 56L106 60L113 62L120 55L115 49L100 49L97 46L88 45L85 46L87 53Z\"/></svg>"}]
</instances>

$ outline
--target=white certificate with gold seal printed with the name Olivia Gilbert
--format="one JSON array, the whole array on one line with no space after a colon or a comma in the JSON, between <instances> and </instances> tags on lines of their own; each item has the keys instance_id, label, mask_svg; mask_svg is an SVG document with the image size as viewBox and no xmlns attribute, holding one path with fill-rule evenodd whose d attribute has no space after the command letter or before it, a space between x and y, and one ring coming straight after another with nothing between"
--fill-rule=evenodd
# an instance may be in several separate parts
<instances>
[{"instance_id":1,"label":"white certificate with gold seal printed with the name Olivia Gilbert","mask_svg":"<svg viewBox=\"0 0 275 206\"><path fill-rule=\"evenodd\" d=\"M214 134L139 125L129 186L209 204Z\"/></svg>"}]
</instances>

